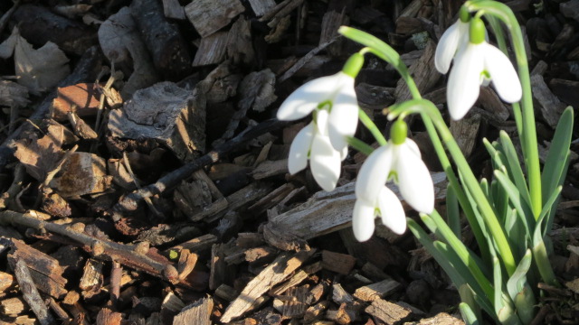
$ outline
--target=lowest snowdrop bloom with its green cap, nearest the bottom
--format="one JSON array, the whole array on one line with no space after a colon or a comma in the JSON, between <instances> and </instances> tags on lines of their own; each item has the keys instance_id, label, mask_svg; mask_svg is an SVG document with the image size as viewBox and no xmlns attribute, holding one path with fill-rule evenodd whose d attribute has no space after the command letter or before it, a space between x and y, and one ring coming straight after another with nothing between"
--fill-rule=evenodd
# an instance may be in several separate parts
<instances>
[{"instance_id":1,"label":"lowest snowdrop bloom with its green cap, nearest the bottom","mask_svg":"<svg viewBox=\"0 0 579 325\"><path fill-rule=\"evenodd\" d=\"M434 187L430 172L422 162L418 146L406 139L406 124L402 119L393 125L391 140L378 148L362 165L356 181L356 203L352 228L358 241L374 233L376 214L384 226L396 234L406 230L402 203L384 184L394 178L406 202L422 213L434 209Z\"/></svg>"}]
</instances>

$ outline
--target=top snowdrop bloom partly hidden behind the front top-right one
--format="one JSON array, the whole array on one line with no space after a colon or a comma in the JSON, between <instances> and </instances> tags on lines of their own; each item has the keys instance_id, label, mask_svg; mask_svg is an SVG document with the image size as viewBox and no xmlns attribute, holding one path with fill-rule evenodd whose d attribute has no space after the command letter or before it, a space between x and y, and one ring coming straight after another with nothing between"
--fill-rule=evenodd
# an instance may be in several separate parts
<instances>
[{"instance_id":1,"label":"top snowdrop bloom partly hidden behind the front top-right one","mask_svg":"<svg viewBox=\"0 0 579 325\"><path fill-rule=\"evenodd\" d=\"M451 61L454 58L454 54L459 49L465 48L469 43L470 14L462 6L460 7L459 15L460 19L442 34L434 53L434 66L436 70L443 74L451 69Z\"/></svg>"}]
</instances>

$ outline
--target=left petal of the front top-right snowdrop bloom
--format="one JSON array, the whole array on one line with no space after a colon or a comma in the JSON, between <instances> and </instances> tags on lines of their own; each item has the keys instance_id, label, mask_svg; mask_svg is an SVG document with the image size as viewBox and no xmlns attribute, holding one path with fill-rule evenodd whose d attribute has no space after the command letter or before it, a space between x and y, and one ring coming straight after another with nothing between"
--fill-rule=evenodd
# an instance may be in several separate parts
<instances>
[{"instance_id":1,"label":"left petal of the front top-right snowdrop bloom","mask_svg":"<svg viewBox=\"0 0 579 325\"><path fill-rule=\"evenodd\" d=\"M480 73L483 58L479 45L469 43L465 50L454 58L446 98L449 112L454 120L464 117L479 98Z\"/></svg>"}]
</instances>

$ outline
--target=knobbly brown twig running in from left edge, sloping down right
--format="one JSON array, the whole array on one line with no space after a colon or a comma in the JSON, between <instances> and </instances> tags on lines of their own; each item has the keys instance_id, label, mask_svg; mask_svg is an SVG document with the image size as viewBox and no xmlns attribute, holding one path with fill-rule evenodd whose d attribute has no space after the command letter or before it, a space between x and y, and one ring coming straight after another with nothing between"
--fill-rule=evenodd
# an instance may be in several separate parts
<instances>
[{"instance_id":1,"label":"knobbly brown twig running in from left edge, sloping down right","mask_svg":"<svg viewBox=\"0 0 579 325\"><path fill-rule=\"evenodd\" d=\"M91 237L79 228L66 225L57 225L33 217L27 213L15 211L0 212L0 225L13 225L33 228L40 231L48 231L63 237L69 237L81 244L82 249L97 258L119 262L121 265L146 272L157 277L164 278L171 283L177 282L177 270L172 263L162 263L154 260L135 249L138 246L128 246L113 241Z\"/></svg>"}]
</instances>

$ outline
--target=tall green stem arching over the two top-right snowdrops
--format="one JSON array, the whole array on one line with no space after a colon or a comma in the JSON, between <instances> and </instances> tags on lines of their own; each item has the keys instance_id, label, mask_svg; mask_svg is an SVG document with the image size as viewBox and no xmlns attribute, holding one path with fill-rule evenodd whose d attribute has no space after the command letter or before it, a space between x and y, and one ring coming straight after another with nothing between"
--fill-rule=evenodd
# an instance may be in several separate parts
<instances>
[{"instance_id":1,"label":"tall green stem arching over the two top-right snowdrops","mask_svg":"<svg viewBox=\"0 0 579 325\"><path fill-rule=\"evenodd\" d=\"M519 136L523 142L523 153L525 153L525 165L527 166L528 187L531 195L531 204L535 218L538 218L542 209L542 193L541 193L541 170L539 165L539 154L536 142L536 127L535 127L535 111L533 109L533 97L531 93L531 79L528 72L527 54L525 51L525 43L523 42L523 35L517 18L513 14L508 5L504 5L495 1L467 1L464 4L470 12L483 11L484 14L490 14L497 17L504 23L508 31L511 33L513 42L513 49L517 59L518 77L523 88L523 98L521 99L522 110L522 125L517 123L517 127L522 126L522 131L519 128Z\"/></svg>"}]
</instances>

